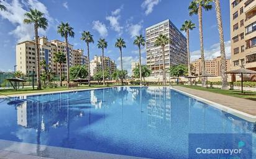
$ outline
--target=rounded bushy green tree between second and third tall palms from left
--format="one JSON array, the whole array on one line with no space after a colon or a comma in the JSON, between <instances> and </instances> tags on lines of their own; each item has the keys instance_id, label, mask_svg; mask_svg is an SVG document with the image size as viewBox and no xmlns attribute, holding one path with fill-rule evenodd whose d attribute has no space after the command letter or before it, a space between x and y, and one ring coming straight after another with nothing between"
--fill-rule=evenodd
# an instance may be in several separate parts
<instances>
[{"instance_id":1,"label":"rounded bushy green tree between second and third tall palms from left","mask_svg":"<svg viewBox=\"0 0 256 159\"><path fill-rule=\"evenodd\" d=\"M70 79L85 79L87 75L88 71L84 65L70 67Z\"/></svg>"}]
</instances>

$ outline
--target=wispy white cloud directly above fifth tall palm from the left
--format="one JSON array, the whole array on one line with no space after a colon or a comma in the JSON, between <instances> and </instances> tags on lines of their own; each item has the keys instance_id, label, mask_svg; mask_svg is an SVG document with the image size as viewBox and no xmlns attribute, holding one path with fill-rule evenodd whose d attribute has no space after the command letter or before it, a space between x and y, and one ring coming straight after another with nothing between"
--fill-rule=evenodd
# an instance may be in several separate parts
<instances>
[{"instance_id":1,"label":"wispy white cloud directly above fifth tall palm from the left","mask_svg":"<svg viewBox=\"0 0 256 159\"><path fill-rule=\"evenodd\" d=\"M121 18L120 12L122 10L122 7L123 6L121 6L119 9L116 9L115 11L112 11L111 15L106 17L106 20L109 20L111 28L119 33L119 35L122 34L122 29L124 28L119 24L119 19Z\"/></svg>"}]
</instances>

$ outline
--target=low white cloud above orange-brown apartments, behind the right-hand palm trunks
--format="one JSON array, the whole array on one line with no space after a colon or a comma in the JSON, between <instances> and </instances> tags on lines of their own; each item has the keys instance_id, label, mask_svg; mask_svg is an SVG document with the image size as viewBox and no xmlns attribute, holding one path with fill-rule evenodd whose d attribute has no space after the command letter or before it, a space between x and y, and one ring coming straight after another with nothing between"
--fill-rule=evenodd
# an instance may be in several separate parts
<instances>
[{"instance_id":1,"label":"low white cloud above orange-brown apartments, behind the right-hand palm trunks","mask_svg":"<svg viewBox=\"0 0 256 159\"><path fill-rule=\"evenodd\" d=\"M226 59L231 58L231 41L225 42ZM190 53L191 61L201 58L201 51L196 50ZM210 47L210 49L204 49L204 59L209 60L221 56L219 43L216 43Z\"/></svg>"}]
</instances>

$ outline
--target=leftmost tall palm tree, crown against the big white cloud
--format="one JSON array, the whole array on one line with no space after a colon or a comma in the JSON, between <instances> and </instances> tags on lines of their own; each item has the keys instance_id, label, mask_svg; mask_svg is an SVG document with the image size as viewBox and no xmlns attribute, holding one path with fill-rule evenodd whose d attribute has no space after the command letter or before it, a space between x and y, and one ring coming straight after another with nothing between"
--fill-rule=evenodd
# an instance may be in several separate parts
<instances>
[{"instance_id":1,"label":"leftmost tall palm tree, crown against the big white cloud","mask_svg":"<svg viewBox=\"0 0 256 159\"><path fill-rule=\"evenodd\" d=\"M24 24L34 24L35 31L35 53L37 56L37 89L41 89L41 80L40 80L40 54L39 54L39 33L38 29L42 28L46 30L48 27L48 20L43 17L43 13L37 9L30 9L29 12L25 13L26 19L24 19Z\"/></svg>"}]
</instances>

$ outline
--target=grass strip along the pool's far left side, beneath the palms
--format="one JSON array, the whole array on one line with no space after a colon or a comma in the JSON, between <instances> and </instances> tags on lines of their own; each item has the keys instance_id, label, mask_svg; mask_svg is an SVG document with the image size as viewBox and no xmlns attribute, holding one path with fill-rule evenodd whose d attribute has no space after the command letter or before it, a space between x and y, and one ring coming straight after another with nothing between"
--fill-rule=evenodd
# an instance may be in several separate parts
<instances>
[{"instance_id":1,"label":"grass strip along the pool's far left side, beneath the palms","mask_svg":"<svg viewBox=\"0 0 256 159\"><path fill-rule=\"evenodd\" d=\"M88 88L101 88L101 87L111 87L112 85L91 85L91 87L88 87L88 85L81 85L81 87L78 88L67 88L67 87L57 87L57 88L42 88L42 90L33 90L32 87L29 88L19 88L17 91L13 88L8 89L1 89L0 95L19 95L24 93L40 93L40 92L54 92L54 91L63 91L63 90L80 90L80 89L88 89Z\"/></svg>"}]
</instances>

